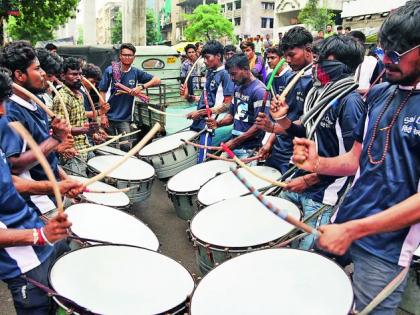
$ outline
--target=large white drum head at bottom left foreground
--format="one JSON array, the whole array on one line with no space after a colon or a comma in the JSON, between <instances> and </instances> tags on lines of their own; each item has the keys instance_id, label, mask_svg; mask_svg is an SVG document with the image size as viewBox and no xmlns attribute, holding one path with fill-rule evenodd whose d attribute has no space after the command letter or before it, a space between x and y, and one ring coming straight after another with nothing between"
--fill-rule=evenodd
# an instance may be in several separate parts
<instances>
[{"instance_id":1,"label":"large white drum head at bottom left foreground","mask_svg":"<svg viewBox=\"0 0 420 315\"><path fill-rule=\"evenodd\" d=\"M159 314L194 289L188 271L156 252L91 246L60 257L50 271L55 291L99 314Z\"/></svg>"}]
</instances>

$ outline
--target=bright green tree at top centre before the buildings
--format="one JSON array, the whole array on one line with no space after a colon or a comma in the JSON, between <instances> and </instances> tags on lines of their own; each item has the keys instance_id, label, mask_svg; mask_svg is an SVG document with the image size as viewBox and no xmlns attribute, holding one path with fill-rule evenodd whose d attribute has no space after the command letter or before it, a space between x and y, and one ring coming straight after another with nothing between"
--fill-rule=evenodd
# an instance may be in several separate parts
<instances>
[{"instance_id":1,"label":"bright green tree at top centre before the buildings","mask_svg":"<svg viewBox=\"0 0 420 315\"><path fill-rule=\"evenodd\" d=\"M218 39L229 37L234 39L232 23L221 13L218 4L199 5L192 14L186 14L188 26L185 36L188 41Z\"/></svg>"}]
</instances>

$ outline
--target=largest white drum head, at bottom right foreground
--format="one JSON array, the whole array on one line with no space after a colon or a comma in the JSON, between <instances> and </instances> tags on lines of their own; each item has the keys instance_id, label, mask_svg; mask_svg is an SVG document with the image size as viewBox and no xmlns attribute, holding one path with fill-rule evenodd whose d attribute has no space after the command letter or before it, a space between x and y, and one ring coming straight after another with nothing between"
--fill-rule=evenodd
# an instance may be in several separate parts
<instances>
[{"instance_id":1,"label":"largest white drum head, at bottom right foreground","mask_svg":"<svg viewBox=\"0 0 420 315\"><path fill-rule=\"evenodd\" d=\"M191 300L192 315L347 315L353 289L333 261L297 249L266 249L210 271Z\"/></svg>"}]
</instances>

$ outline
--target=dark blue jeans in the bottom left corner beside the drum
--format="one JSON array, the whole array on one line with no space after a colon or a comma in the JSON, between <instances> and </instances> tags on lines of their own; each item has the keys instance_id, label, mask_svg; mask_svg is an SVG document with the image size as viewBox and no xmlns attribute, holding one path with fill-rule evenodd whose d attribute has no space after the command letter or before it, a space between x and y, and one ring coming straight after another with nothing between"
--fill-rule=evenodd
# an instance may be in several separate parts
<instances>
[{"instance_id":1,"label":"dark blue jeans in the bottom left corner beside the drum","mask_svg":"<svg viewBox=\"0 0 420 315\"><path fill-rule=\"evenodd\" d=\"M54 252L38 267L25 273L31 279L34 279L43 285L48 286L48 273L52 263L69 247L65 241L54 245ZM44 291L27 282L22 277L4 280L13 297L13 303L18 315L48 315L54 313L54 304Z\"/></svg>"}]
</instances>

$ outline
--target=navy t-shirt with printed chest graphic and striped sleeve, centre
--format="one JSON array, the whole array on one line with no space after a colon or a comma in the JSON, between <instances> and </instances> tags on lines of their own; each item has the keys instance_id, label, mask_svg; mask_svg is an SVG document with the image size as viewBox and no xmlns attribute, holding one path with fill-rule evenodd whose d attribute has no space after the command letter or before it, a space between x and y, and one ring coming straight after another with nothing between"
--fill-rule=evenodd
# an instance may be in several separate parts
<instances>
[{"instance_id":1,"label":"navy t-shirt with printed chest graphic and striped sleeve, centre","mask_svg":"<svg viewBox=\"0 0 420 315\"><path fill-rule=\"evenodd\" d=\"M229 114L233 117L233 137L238 137L255 123L258 113L262 110L262 102L265 93L264 84L255 79L248 84L235 87L235 93ZM265 113L268 114L269 107ZM264 132L259 130L254 137L242 142L237 149L255 149L261 146Z\"/></svg>"}]
</instances>

